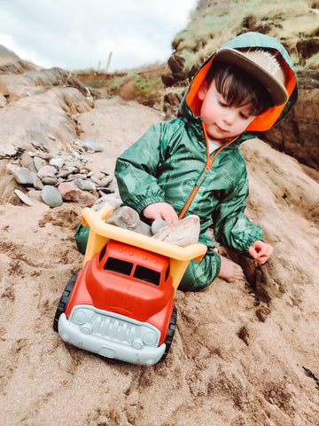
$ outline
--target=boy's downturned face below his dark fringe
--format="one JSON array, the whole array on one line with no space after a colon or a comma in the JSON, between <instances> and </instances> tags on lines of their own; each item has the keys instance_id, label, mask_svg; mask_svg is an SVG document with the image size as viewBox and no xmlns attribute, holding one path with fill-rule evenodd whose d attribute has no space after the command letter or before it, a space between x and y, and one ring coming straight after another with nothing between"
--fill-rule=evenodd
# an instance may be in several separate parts
<instances>
[{"instance_id":1,"label":"boy's downturned face below his dark fringe","mask_svg":"<svg viewBox=\"0 0 319 426\"><path fill-rule=\"evenodd\" d=\"M206 81L201 84L198 98L203 101L200 115L206 132L211 138L221 142L242 133L255 118L255 115L250 114L249 105L228 105L217 91L214 81L209 86Z\"/></svg>"}]
</instances>

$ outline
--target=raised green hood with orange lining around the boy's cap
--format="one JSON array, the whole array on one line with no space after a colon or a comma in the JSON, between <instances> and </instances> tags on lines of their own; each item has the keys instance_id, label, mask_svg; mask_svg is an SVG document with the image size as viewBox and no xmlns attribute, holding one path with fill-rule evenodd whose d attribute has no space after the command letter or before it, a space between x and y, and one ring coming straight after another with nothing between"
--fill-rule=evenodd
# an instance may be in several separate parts
<instances>
[{"instance_id":1,"label":"raised green hood with orange lining around the boy's cap","mask_svg":"<svg viewBox=\"0 0 319 426\"><path fill-rule=\"evenodd\" d=\"M278 51L284 59L285 74L287 75L286 90L288 91L289 95L288 101L284 105L274 106L266 113L256 117L248 129L245 130L240 138L237 139L237 142L242 142L249 138L258 138L262 133L271 129L276 124L276 122L282 120L284 115L289 113L297 100L298 80L296 71L292 64L292 60L290 59L288 52L284 49L284 46L279 43L276 38L265 36L260 33L249 32L242 34L241 36L237 36L231 40L229 43L226 43L222 47L228 47L232 49L253 47L272 49ZM187 120L191 121L195 128L198 129L202 127L202 119L199 116L201 101L198 99L198 88L204 81L208 69L214 60L214 56L215 53L206 60L202 67L199 68L197 74L192 79L188 90L183 96L183 100L178 111L179 116L185 117Z\"/></svg>"}]
</instances>

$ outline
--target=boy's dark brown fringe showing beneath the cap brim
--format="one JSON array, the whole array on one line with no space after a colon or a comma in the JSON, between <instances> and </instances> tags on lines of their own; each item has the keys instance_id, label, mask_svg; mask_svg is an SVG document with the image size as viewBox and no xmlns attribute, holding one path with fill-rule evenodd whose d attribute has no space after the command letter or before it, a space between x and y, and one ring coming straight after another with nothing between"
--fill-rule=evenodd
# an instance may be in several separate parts
<instances>
[{"instance_id":1,"label":"boy's dark brown fringe showing beneath the cap brim","mask_svg":"<svg viewBox=\"0 0 319 426\"><path fill-rule=\"evenodd\" d=\"M274 106L265 86L239 67L213 61L206 82L211 84L213 80L217 91L230 106L250 106L251 115L260 115Z\"/></svg>"}]
</instances>

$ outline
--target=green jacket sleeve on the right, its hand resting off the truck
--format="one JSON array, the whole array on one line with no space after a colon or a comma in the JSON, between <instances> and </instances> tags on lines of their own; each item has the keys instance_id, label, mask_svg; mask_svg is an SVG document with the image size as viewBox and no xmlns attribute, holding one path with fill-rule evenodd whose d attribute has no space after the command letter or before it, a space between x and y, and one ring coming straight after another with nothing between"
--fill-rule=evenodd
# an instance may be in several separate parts
<instances>
[{"instance_id":1,"label":"green jacket sleeve on the right, its hand resting off the truck","mask_svg":"<svg viewBox=\"0 0 319 426\"><path fill-rule=\"evenodd\" d=\"M263 241L261 227L253 224L244 213L248 193L248 178L245 171L245 176L222 197L213 214L216 240L223 246L244 255L248 255L248 249L254 241Z\"/></svg>"}]
</instances>

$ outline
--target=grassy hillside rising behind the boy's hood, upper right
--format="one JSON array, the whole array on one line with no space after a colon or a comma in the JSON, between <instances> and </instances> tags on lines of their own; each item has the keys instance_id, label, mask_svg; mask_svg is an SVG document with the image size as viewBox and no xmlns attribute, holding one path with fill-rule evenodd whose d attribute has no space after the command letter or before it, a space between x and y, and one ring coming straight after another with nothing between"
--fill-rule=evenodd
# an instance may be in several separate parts
<instances>
[{"instance_id":1,"label":"grassy hillside rising behind the boy's hood, upper right","mask_svg":"<svg viewBox=\"0 0 319 426\"><path fill-rule=\"evenodd\" d=\"M276 37L296 67L319 67L319 40L314 42L319 36L319 0L199 0L191 23L172 45L187 70L246 31ZM304 45L308 51L303 53Z\"/></svg>"}]
</instances>

